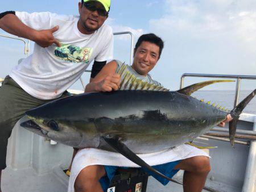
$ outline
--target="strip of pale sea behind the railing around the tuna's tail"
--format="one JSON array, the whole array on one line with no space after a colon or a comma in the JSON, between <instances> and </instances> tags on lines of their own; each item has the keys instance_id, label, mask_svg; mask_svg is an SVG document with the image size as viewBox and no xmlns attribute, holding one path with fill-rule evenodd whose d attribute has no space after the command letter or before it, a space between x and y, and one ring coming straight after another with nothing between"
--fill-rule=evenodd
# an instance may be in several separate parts
<instances>
[{"instance_id":1,"label":"strip of pale sea behind the railing around the tuna's tail","mask_svg":"<svg viewBox=\"0 0 256 192\"><path fill-rule=\"evenodd\" d=\"M241 102L247 95L249 95L253 90L241 90L239 102ZM236 91L226 91L226 90L199 90L192 94L193 97L197 99L204 99L204 102L210 101L210 103L215 103L222 107L232 110L234 108ZM256 96L248 103L248 105L243 110L245 113L256 115Z\"/></svg>"}]
</instances>

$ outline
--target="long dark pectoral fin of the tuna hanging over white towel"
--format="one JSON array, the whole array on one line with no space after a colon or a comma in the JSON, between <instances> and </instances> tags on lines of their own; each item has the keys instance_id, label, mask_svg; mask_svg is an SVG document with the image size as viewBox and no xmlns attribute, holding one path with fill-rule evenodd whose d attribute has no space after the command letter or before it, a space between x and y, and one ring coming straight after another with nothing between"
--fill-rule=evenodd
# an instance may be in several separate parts
<instances>
[{"instance_id":1,"label":"long dark pectoral fin of the tuna hanging over white towel","mask_svg":"<svg viewBox=\"0 0 256 192\"><path fill-rule=\"evenodd\" d=\"M132 152L128 147L126 147L125 144L122 143L119 137L104 136L103 139L106 141L106 143L108 143L111 147L113 147L115 151L121 153L123 156L133 161L135 164L141 166L142 168L150 170L151 172L158 174L159 176L166 178L167 180L174 181L171 178L164 176L164 174L158 172L157 170L152 168L150 165L148 165L145 161L143 161L141 158L139 158L134 152ZM179 183L179 184L183 185L182 183Z\"/></svg>"}]
</instances>

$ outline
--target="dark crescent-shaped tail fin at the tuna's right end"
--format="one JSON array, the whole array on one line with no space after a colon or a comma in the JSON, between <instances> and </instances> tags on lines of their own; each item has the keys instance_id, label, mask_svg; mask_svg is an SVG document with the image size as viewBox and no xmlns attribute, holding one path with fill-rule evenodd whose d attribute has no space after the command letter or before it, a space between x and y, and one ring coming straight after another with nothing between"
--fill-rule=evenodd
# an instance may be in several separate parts
<instances>
[{"instance_id":1,"label":"dark crescent-shaped tail fin at the tuna's right end","mask_svg":"<svg viewBox=\"0 0 256 192\"><path fill-rule=\"evenodd\" d=\"M256 89L251 92L243 101L241 101L232 111L230 111L230 115L233 120L229 122L229 139L232 146L234 146L234 137L236 135L237 130L237 122L239 119L239 115L242 113L242 110L246 107L246 105L253 99L256 94Z\"/></svg>"}]
</instances>

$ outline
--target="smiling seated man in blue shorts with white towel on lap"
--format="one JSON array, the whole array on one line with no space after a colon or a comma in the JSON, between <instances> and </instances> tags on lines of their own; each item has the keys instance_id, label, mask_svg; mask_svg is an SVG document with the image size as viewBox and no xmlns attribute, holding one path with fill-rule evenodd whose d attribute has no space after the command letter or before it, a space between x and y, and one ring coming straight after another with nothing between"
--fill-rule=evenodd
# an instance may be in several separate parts
<instances>
[{"instance_id":1,"label":"smiling seated man in blue shorts with white towel on lap","mask_svg":"<svg viewBox=\"0 0 256 192\"><path fill-rule=\"evenodd\" d=\"M167 91L148 74L159 61L163 47L162 39L155 34L142 35L135 45L132 65L124 64L118 60L109 62L92 82L86 85L85 91L138 90L139 87L144 88L144 82L152 85L151 90ZM228 120L230 120L229 117ZM222 124L225 124L225 122ZM154 162L152 164L155 166L152 167L167 177L171 178L180 169L185 170L184 191L198 192L203 189L210 171L210 163L208 155L200 149L183 144L177 148L152 155L154 161L151 161L152 159L148 161L147 154L143 155L144 161ZM159 156L164 158L161 159ZM94 157L93 160L92 157ZM129 163L126 164L125 162L120 154L100 149L81 149L72 165L69 192L74 190L85 192L93 189L94 191L106 191L109 182L118 169L118 166L113 165L126 167ZM152 176L163 185L167 185L169 182L162 177Z\"/></svg>"}]
</instances>

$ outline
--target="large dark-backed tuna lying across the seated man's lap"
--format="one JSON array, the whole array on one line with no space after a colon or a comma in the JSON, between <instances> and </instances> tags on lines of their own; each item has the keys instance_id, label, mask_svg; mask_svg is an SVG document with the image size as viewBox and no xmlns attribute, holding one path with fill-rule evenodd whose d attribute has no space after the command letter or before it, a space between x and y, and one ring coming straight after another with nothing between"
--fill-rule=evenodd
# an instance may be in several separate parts
<instances>
[{"instance_id":1,"label":"large dark-backed tuna lying across the seated man's lap","mask_svg":"<svg viewBox=\"0 0 256 192\"><path fill-rule=\"evenodd\" d=\"M162 151L191 141L229 114L189 96L212 83L203 82L179 91L127 90L73 95L27 111L32 121L22 126L72 147L117 151L156 172L135 153ZM238 117L255 93L256 89L230 112L232 144Z\"/></svg>"}]
</instances>

